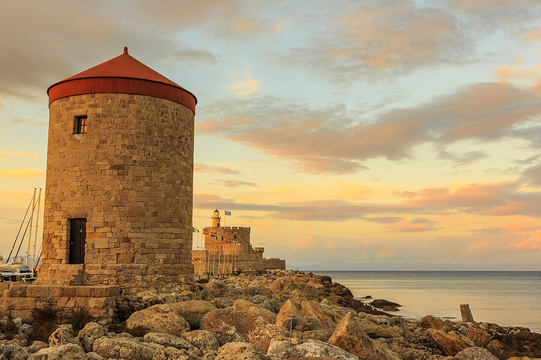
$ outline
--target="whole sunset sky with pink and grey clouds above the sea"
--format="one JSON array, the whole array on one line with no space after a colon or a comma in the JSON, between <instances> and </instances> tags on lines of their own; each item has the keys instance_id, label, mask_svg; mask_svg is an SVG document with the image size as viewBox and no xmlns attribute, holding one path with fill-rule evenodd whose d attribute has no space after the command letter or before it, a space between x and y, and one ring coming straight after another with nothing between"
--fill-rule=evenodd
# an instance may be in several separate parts
<instances>
[{"instance_id":1,"label":"whole sunset sky with pink and grey clouds above the sea","mask_svg":"<svg viewBox=\"0 0 541 360\"><path fill-rule=\"evenodd\" d=\"M3 1L0 34L4 257L47 88L128 46L197 96L195 228L229 210L288 266L540 262L538 0Z\"/></svg>"}]
</instances>

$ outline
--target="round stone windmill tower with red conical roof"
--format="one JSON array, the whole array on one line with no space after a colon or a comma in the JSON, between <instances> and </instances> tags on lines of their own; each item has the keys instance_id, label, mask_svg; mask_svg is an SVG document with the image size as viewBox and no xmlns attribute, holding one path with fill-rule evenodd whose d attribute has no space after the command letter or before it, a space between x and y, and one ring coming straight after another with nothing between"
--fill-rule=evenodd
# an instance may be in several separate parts
<instances>
[{"instance_id":1,"label":"round stone windmill tower with red conical roof","mask_svg":"<svg viewBox=\"0 0 541 360\"><path fill-rule=\"evenodd\" d=\"M193 276L195 96L124 53L51 85L45 285L174 289Z\"/></svg>"}]
</instances>

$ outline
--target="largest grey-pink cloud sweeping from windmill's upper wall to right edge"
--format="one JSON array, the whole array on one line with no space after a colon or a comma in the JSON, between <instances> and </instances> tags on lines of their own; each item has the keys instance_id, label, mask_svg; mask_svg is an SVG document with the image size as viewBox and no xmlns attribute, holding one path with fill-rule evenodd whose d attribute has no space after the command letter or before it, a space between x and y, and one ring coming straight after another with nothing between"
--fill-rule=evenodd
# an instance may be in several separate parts
<instances>
[{"instance_id":1,"label":"largest grey-pink cloud sweeping from windmill's upper wall to right edge","mask_svg":"<svg viewBox=\"0 0 541 360\"><path fill-rule=\"evenodd\" d=\"M426 104L362 119L343 104L313 109L264 96L217 101L200 109L205 117L197 131L291 159L305 171L347 173L364 169L358 162L366 159L410 158L415 146L425 143L445 150L464 139L486 142L512 136L537 146L540 99L541 86L476 83ZM459 163L486 156L482 151L441 154Z\"/></svg>"}]
</instances>

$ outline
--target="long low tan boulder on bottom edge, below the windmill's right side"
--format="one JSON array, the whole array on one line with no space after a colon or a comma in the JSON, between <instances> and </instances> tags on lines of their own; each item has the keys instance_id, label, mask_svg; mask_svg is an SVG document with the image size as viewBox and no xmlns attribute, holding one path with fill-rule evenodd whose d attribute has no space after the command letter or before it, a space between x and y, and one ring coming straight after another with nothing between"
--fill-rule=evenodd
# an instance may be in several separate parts
<instances>
[{"instance_id":1,"label":"long low tan boulder on bottom edge, below the windmill's right side","mask_svg":"<svg viewBox=\"0 0 541 360\"><path fill-rule=\"evenodd\" d=\"M106 359L152 360L154 352L159 349L164 349L164 346L128 337L101 337L94 342L94 352Z\"/></svg>"}]
</instances>

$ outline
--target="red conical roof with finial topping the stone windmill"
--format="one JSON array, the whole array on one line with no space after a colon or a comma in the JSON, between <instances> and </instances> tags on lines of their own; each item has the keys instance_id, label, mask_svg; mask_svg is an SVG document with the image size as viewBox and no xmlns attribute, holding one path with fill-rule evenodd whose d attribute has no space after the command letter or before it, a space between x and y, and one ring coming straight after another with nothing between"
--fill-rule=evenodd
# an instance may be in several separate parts
<instances>
[{"instance_id":1,"label":"red conical roof with finial topping the stone windmill","mask_svg":"<svg viewBox=\"0 0 541 360\"><path fill-rule=\"evenodd\" d=\"M194 113L197 103L195 95L128 55L126 47L122 55L68 77L47 89L49 104L66 96L101 92L164 98L187 106Z\"/></svg>"}]
</instances>

